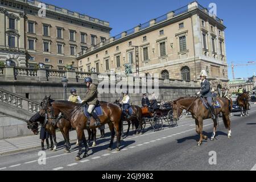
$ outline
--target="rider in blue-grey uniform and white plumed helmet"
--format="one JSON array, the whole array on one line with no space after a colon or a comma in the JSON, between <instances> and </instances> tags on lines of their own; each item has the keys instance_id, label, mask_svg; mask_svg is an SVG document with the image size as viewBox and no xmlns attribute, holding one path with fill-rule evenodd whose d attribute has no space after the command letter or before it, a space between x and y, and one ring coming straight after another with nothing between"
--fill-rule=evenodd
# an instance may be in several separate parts
<instances>
[{"instance_id":1,"label":"rider in blue-grey uniform and white plumed helmet","mask_svg":"<svg viewBox=\"0 0 256 182\"><path fill-rule=\"evenodd\" d=\"M210 82L206 79L207 72L202 70L200 73L201 79L201 90L197 92L197 95L201 94L202 97L207 98L207 102L209 104L210 113L212 113L212 119L216 119L216 115L214 114L214 109L212 105L212 93L210 93Z\"/></svg>"}]
</instances>

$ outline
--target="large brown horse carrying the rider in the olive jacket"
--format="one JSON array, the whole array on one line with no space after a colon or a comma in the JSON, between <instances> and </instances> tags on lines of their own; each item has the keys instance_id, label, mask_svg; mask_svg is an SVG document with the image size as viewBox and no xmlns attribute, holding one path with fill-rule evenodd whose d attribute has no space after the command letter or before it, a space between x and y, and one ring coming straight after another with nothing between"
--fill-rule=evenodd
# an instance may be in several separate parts
<instances>
[{"instance_id":1,"label":"large brown horse carrying the rider in the olive jacket","mask_svg":"<svg viewBox=\"0 0 256 182\"><path fill-rule=\"evenodd\" d=\"M104 125L108 123L109 129L111 131L111 140L109 144L108 150L112 149L113 146L113 140L115 136L115 131L117 132L117 146L116 150L119 151L120 146L120 138L121 138L121 116L122 116L122 110L118 105L108 103L108 102L100 102L100 105L102 107L103 115L99 116L101 124ZM84 135L84 129L86 128L88 118L84 115L84 107L81 104L76 104L73 102L68 101L54 101L50 102L49 100L47 102L44 102L42 109L47 110L49 122L56 122L56 119L58 118L58 115L60 113L63 114L63 118L67 119L71 122L71 126L76 130L77 132L77 139L79 142L79 152L76 156L76 160L80 160L80 155L82 154L82 143L84 143L85 146L85 152L83 158L88 156L88 145L86 143L86 138ZM94 126L94 119L90 119L90 128L96 129L96 126ZM100 126L97 126L100 127ZM114 130L115 129L115 130Z\"/></svg>"}]
</instances>

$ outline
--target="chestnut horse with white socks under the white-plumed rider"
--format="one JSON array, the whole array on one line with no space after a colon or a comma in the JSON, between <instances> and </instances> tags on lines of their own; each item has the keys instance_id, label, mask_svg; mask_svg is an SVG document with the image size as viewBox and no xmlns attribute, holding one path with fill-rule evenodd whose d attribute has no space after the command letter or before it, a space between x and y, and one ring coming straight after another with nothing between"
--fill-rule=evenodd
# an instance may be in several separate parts
<instances>
[{"instance_id":1,"label":"chestnut horse with white socks under the white-plumed rider","mask_svg":"<svg viewBox=\"0 0 256 182\"><path fill-rule=\"evenodd\" d=\"M214 113L218 115L222 113L222 119L226 129L228 129L228 138L231 137L230 130L230 119L229 119L229 102L226 98L216 98L220 103L220 108L214 109ZM181 97L176 101L172 102L172 108L174 111L174 119L180 117L183 109L189 111L196 122L196 133L200 135L199 146L202 144L203 138L208 139L207 136L203 135L203 120L211 118L210 111L204 106L203 102L198 97ZM213 134L211 140L214 140L215 133L217 131L217 119L213 121Z\"/></svg>"}]
</instances>

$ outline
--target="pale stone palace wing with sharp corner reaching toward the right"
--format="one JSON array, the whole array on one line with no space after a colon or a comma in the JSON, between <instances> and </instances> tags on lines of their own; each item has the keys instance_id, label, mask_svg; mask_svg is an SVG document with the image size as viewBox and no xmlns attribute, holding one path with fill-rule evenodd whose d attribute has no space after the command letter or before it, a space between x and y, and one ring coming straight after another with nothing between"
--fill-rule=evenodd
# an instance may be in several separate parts
<instances>
[{"instance_id":1,"label":"pale stone palace wing with sharp corner reaching toward the right","mask_svg":"<svg viewBox=\"0 0 256 182\"><path fill-rule=\"evenodd\" d=\"M225 28L222 19L192 2L79 53L79 71L119 74L129 63L133 73L197 80L205 69L210 79L227 82Z\"/></svg>"}]
</instances>

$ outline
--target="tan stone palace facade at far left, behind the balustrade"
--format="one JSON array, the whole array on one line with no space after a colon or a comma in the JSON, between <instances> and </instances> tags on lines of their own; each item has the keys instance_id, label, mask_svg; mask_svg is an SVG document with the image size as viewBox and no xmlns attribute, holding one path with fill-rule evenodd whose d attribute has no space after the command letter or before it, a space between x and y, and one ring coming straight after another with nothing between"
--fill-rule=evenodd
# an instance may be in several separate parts
<instances>
[{"instance_id":1,"label":"tan stone palace facade at far left, behind the balustrade","mask_svg":"<svg viewBox=\"0 0 256 182\"><path fill-rule=\"evenodd\" d=\"M35 0L0 0L0 22L0 61L11 59L18 67L40 62L76 69L77 52L109 39L112 29L104 20Z\"/></svg>"}]
</instances>

